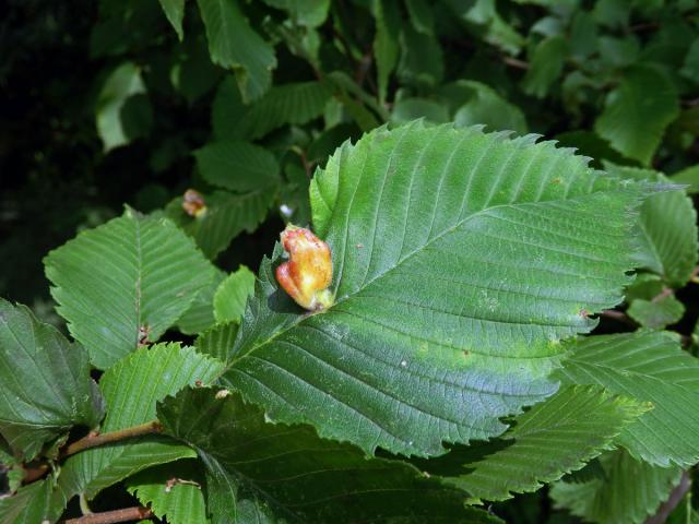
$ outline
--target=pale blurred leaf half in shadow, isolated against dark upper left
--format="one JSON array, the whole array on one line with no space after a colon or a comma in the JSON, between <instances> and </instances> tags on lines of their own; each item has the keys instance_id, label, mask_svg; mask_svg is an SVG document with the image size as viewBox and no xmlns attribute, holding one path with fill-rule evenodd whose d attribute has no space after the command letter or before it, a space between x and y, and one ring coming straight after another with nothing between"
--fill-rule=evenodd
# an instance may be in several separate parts
<instances>
[{"instance_id":1,"label":"pale blurred leaf half in shadow, isolated against dark upper left","mask_svg":"<svg viewBox=\"0 0 699 524\"><path fill-rule=\"evenodd\" d=\"M145 93L141 70L133 62L122 63L107 76L95 108L97 133L105 152L150 131L150 104L138 98Z\"/></svg>"}]
</instances>

